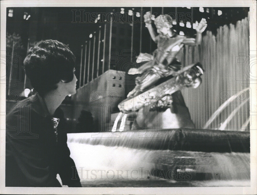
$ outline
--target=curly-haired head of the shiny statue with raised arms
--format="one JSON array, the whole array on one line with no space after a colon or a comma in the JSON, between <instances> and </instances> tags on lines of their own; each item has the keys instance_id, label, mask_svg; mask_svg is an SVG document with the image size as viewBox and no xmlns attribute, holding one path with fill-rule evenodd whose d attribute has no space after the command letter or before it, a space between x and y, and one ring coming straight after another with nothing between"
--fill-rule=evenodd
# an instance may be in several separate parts
<instances>
[{"instance_id":1,"label":"curly-haired head of the shiny statue with raised arms","mask_svg":"<svg viewBox=\"0 0 257 195\"><path fill-rule=\"evenodd\" d=\"M155 19L154 24L157 28L157 32L165 35L172 28L172 17L170 17L168 14L159 15Z\"/></svg>"}]
</instances>

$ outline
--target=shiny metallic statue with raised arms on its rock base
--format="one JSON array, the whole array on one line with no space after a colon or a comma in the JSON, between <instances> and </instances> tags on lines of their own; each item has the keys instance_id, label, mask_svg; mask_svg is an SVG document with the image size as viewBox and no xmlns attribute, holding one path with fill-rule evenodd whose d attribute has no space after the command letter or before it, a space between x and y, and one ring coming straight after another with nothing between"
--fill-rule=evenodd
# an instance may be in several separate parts
<instances>
[{"instance_id":1,"label":"shiny metallic statue with raised arms on its rock base","mask_svg":"<svg viewBox=\"0 0 257 195\"><path fill-rule=\"evenodd\" d=\"M158 35L152 28L152 20ZM112 131L155 127L194 128L180 89L198 87L203 68L200 63L196 63L181 69L176 54L183 45L201 43L201 34L207 27L206 20L203 18L196 27L196 38L177 35L172 30L172 18L167 14L154 18L154 15L147 12L144 22L151 38L157 43L157 49L152 55L140 53L136 62L145 63L128 71L128 74L140 76L136 77L136 86L128 93L127 99L118 105L121 113L116 120L123 117L123 127L117 127L116 121Z\"/></svg>"}]
</instances>

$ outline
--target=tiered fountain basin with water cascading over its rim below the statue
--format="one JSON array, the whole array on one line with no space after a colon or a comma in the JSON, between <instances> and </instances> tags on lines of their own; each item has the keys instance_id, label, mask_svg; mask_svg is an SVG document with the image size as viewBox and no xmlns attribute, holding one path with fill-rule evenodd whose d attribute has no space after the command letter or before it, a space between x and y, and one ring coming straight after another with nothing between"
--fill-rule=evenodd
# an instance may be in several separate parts
<instances>
[{"instance_id":1,"label":"tiered fountain basin with water cascading over its rim below the statue","mask_svg":"<svg viewBox=\"0 0 257 195\"><path fill-rule=\"evenodd\" d=\"M77 133L68 134L67 143L84 186L248 186L249 135L206 129Z\"/></svg>"}]
</instances>

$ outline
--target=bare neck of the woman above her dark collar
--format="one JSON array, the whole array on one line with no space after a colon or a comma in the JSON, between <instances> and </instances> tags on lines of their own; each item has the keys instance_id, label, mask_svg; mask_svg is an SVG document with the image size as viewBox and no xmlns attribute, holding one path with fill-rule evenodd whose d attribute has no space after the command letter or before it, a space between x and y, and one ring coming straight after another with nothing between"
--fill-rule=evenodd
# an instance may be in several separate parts
<instances>
[{"instance_id":1,"label":"bare neck of the woman above her dark collar","mask_svg":"<svg viewBox=\"0 0 257 195\"><path fill-rule=\"evenodd\" d=\"M61 105L62 101L65 99L66 96L58 94L56 91L48 92L44 97L43 100L50 115L53 115L56 109Z\"/></svg>"}]
</instances>

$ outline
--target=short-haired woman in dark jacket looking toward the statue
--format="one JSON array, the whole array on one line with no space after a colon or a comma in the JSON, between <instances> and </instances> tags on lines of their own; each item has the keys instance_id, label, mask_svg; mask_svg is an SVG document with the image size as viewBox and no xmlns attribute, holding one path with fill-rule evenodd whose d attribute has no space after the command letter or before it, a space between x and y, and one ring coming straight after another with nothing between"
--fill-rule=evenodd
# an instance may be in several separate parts
<instances>
[{"instance_id":1,"label":"short-haired woman in dark jacket looking toward the statue","mask_svg":"<svg viewBox=\"0 0 257 195\"><path fill-rule=\"evenodd\" d=\"M24 60L33 95L6 116L5 185L13 187L81 187L67 146L67 129L59 108L76 93L75 56L67 45L44 40Z\"/></svg>"}]
</instances>

